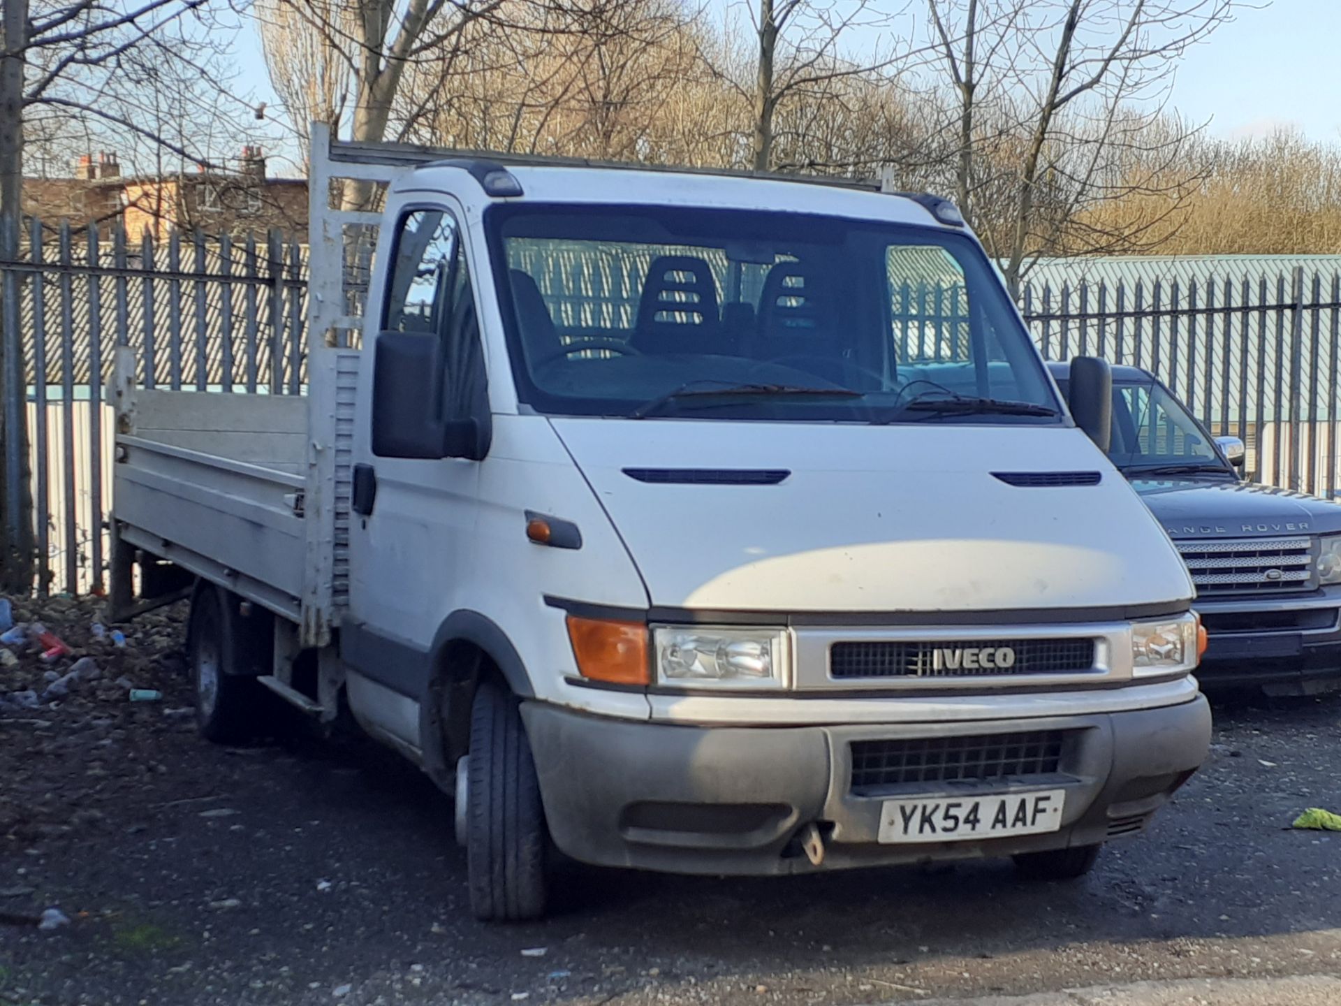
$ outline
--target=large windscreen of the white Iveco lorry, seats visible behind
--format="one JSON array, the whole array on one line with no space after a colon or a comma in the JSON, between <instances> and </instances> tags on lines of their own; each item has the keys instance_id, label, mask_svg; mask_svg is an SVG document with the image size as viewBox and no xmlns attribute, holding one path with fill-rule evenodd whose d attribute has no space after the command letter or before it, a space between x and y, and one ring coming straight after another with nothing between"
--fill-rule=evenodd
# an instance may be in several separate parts
<instances>
[{"instance_id":1,"label":"large windscreen of the white Iveco lorry, seats visible behind","mask_svg":"<svg viewBox=\"0 0 1341 1006\"><path fill-rule=\"evenodd\" d=\"M485 223L518 389L536 410L1063 421L964 235L645 207L514 204Z\"/></svg>"}]
</instances>

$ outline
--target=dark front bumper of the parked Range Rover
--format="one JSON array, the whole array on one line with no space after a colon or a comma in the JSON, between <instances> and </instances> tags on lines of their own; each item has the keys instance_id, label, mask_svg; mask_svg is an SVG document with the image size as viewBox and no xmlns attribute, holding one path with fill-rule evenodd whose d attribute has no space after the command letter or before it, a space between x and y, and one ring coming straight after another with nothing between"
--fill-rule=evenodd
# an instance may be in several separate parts
<instances>
[{"instance_id":1,"label":"dark front bumper of the parked Range Rover","mask_svg":"<svg viewBox=\"0 0 1341 1006\"><path fill-rule=\"evenodd\" d=\"M1207 691L1265 685L1279 693L1341 688L1341 588L1302 597L1200 600Z\"/></svg>"}]
</instances>

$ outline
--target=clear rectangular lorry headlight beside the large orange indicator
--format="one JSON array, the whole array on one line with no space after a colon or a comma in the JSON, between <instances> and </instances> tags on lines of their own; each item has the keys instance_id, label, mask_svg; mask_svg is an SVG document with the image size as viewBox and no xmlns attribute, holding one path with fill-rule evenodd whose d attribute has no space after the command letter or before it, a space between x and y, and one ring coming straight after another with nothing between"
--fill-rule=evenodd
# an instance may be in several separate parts
<instances>
[{"instance_id":1,"label":"clear rectangular lorry headlight beside the large orange indicator","mask_svg":"<svg viewBox=\"0 0 1341 1006\"><path fill-rule=\"evenodd\" d=\"M713 688L784 688L787 636L779 629L654 625L657 683Z\"/></svg>"}]
</instances>

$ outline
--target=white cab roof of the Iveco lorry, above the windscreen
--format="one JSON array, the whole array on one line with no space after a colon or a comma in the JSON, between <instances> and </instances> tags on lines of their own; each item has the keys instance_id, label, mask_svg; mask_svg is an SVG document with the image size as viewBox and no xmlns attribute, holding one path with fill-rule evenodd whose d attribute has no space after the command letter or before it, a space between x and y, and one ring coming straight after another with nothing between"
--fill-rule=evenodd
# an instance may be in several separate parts
<instances>
[{"instance_id":1,"label":"white cab roof of the Iveco lorry, above the windscreen","mask_svg":"<svg viewBox=\"0 0 1341 1006\"><path fill-rule=\"evenodd\" d=\"M473 181L463 185L465 173L448 164L416 168L396 181L394 190L452 190L477 205L507 201L782 209L959 229L941 224L929 209L907 196L802 180L637 168L508 165L507 170L522 184L523 196L492 199Z\"/></svg>"}]
</instances>

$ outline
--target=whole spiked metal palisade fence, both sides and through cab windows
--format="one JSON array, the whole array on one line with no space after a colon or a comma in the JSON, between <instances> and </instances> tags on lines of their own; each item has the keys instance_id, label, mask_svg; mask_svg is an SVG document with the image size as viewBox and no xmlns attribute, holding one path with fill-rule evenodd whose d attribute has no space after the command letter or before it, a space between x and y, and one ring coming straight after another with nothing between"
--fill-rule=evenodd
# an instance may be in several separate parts
<instances>
[{"instance_id":1,"label":"whole spiked metal palisade fence, both sides and through cab windows","mask_svg":"<svg viewBox=\"0 0 1341 1006\"><path fill-rule=\"evenodd\" d=\"M366 239L354 259L346 248L342 287L354 294L366 286ZM145 384L300 394L307 262L306 247L278 233L173 235L156 244L127 241L118 228L27 221L23 252L0 262L0 278L19 291L39 589L103 588L114 347L135 350ZM957 276L919 286L894 266L890 314L902 351L956 358L970 317ZM1216 275L1184 266L1148 259L1144 274L1100 270L1096 278L1093 263L1051 263L1023 287L1021 307L1045 357L1088 353L1144 366L1212 433L1242 437L1255 478L1336 495L1341 258L1285 268L1270 259L1218 262ZM566 266L552 255L527 267L544 288L547 271ZM640 283L633 274L567 282L559 286L582 290L581 303L550 306L561 325L628 325ZM605 314L591 314L587 300ZM628 310L614 310L625 300Z\"/></svg>"}]
</instances>

